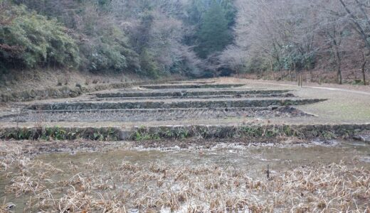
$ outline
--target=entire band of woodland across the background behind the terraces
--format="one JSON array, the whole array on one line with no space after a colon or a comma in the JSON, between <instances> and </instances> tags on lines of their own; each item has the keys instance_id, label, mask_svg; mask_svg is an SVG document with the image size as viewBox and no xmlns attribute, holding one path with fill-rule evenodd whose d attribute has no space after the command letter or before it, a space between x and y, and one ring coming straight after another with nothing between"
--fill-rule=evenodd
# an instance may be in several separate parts
<instances>
[{"instance_id":1,"label":"entire band of woodland across the background behind the terraces","mask_svg":"<svg viewBox=\"0 0 370 213\"><path fill-rule=\"evenodd\" d=\"M369 0L0 2L1 73L58 67L294 80L305 72L338 83L355 73L361 84L369 75Z\"/></svg>"}]
</instances>

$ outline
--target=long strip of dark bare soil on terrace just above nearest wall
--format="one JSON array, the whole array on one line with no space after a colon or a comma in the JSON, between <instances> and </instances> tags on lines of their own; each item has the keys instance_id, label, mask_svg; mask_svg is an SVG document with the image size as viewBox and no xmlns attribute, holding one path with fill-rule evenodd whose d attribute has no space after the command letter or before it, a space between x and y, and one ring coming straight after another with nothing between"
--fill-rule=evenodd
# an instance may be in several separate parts
<instances>
[{"instance_id":1,"label":"long strip of dark bare soil on terrace just above nearest wall","mask_svg":"<svg viewBox=\"0 0 370 213\"><path fill-rule=\"evenodd\" d=\"M23 111L20 114L0 116L0 122L135 122L181 121L189 119L231 119L246 117L307 117L294 107L238 107L238 108L176 108L176 109L98 109Z\"/></svg>"}]
</instances>

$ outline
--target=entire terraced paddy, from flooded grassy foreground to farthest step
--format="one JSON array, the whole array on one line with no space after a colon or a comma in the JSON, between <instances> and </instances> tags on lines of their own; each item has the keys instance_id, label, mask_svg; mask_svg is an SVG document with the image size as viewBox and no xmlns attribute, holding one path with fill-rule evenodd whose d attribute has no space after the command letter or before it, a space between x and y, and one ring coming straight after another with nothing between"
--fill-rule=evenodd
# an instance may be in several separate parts
<instances>
[{"instance_id":1,"label":"entire terraced paddy, from flooded grassy foreground to farthest step","mask_svg":"<svg viewBox=\"0 0 370 213\"><path fill-rule=\"evenodd\" d=\"M16 103L0 117L0 212L369 212L370 145L351 138L370 124L328 124L310 109L331 97L295 89L204 80Z\"/></svg>"}]
</instances>

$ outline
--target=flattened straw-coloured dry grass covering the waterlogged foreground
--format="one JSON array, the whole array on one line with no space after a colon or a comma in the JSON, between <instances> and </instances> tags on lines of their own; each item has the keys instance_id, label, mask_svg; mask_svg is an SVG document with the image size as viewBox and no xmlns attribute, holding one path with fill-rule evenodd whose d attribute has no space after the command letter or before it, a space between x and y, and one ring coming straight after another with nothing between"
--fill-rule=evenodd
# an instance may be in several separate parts
<instances>
[{"instance_id":1,"label":"flattened straw-coloured dry grass covering the waterlogged foreground","mask_svg":"<svg viewBox=\"0 0 370 213\"><path fill-rule=\"evenodd\" d=\"M25 212L370 211L369 170L344 163L305 165L270 178L261 170L252 178L243 168L162 162L90 159L56 168L26 158L14 146L1 148L0 177L10 182L6 195L24 199ZM4 200L0 212L13 208Z\"/></svg>"}]
</instances>

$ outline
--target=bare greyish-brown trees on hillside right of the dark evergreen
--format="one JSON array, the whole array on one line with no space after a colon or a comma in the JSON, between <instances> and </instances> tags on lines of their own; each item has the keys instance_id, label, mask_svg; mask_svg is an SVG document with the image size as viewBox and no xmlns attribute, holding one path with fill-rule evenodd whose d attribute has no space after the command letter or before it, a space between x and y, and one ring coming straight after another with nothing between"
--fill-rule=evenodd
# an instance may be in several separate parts
<instances>
[{"instance_id":1,"label":"bare greyish-brown trees on hillside right of the dark evergreen","mask_svg":"<svg viewBox=\"0 0 370 213\"><path fill-rule=\"evenodd\" d=\"M369 0L236 0L235 5L235 43L221 57L235 72L271 73L275 79L308 72L311 80L329 77L340 84L345 75L364 83Z\"/></svg>"}]
</instances>

